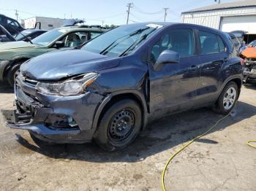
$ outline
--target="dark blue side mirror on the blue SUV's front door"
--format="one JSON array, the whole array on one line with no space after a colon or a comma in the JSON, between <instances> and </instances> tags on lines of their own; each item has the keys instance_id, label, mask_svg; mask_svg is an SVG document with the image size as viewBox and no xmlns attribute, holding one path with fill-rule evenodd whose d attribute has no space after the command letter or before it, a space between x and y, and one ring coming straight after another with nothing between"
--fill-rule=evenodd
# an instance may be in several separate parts
<instances>
[{"instance_id":1,"label":"dark blue side mirror on the blue SUV's front door","mask_svg":"<svg viewBox=\"0 0 256 191\"><path fill-rule=\"evenodd\" d=\"M178 52L172 50L163 51L157 58L157 62L154 64L154 70L160 70L167 63L178 63L179 55Z\"/></svg>"}]
</instances>

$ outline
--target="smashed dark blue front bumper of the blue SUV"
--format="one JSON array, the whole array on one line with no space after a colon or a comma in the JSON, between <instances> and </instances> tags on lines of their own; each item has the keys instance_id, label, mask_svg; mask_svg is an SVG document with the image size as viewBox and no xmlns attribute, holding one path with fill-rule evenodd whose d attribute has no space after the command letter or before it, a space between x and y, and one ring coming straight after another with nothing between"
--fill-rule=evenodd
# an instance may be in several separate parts
<instances>
[{"instance_id":1,"label":"smashed dark blue front bumper of the blue SUV","mask_svg":"<svg viewBox=\"0 0 256 191\"><path fill-rule=\"evenodd\" d=\"M29 130L49 142L83 143L93 138L94 114L103 98L91 92L75 96L43 95L34 85L18 78L17 109L2 112L10 128Z\"/></svg>"}]
</instances>

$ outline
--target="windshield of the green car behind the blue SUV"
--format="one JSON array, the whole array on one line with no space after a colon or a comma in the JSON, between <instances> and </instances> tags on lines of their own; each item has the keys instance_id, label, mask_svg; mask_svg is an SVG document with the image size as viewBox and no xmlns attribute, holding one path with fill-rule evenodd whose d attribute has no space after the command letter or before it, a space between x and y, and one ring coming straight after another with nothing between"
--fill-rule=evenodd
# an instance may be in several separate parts
<instances>
[{"instance_id":1,"label":"windshield of the green car behind the blue SUV","mask_svg":"<svg viewBox=\"0 0 256 191\"><path fill-rule=\"evenodd\" d=\"M67 29L53 29L51 31L46 32L45 34L42 34L40 36L37 36L37 38L33 39L33 44L45 46L47 44L50 44L50 42L53 42L55 39L57 39L62 34L66 33Z\"/></svg>"}]
</instances>

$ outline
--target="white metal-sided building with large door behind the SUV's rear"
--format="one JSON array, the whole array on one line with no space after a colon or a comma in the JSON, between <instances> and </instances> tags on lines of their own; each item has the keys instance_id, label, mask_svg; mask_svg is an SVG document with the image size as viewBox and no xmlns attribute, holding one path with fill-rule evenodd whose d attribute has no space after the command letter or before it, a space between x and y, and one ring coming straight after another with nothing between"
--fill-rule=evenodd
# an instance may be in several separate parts
<instances>
[{"instance_id":1,"label":"white metal-sided building with large door behind the SUV's rear","mask_svg":"<svg viewBox=\"0 0 256 191\"><path fill-rule=\"evenodd\" d=\"M216 28L221 31L248 31L256 34L256 0L233 1L200 7L181 13L183 23Z\"/></svg>"}]
</instances>

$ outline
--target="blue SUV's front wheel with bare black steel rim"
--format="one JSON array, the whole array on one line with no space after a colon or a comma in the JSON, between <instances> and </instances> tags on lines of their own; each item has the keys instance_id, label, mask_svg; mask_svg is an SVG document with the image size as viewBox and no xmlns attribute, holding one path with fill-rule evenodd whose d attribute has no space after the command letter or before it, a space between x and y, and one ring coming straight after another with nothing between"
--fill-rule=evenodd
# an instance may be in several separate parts
<instances>
[{"instance_id":1,"label":"blue SUV's front wheel with bare black steel rim","mask_svg":"<svg viewBox=\"0 0 256 191\"><path fill-rule=\"evenodd\" d=\"M94 140L105 150L127 147L140 133L142 113L136 101L117 101L103 114Z\"/></svg>"}]
</instances>

